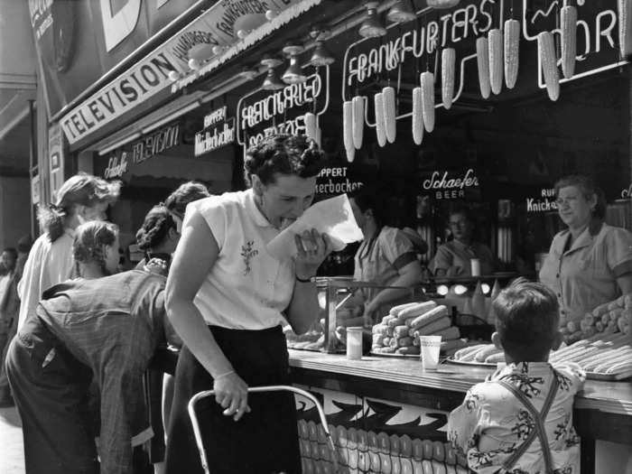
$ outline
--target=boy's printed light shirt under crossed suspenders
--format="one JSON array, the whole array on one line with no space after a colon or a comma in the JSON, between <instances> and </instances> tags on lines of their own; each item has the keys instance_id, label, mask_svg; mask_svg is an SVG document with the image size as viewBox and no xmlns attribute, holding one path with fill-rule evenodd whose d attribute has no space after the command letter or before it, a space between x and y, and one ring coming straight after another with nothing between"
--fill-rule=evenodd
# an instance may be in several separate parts
<instances>
[{"instance_id":1,"label":"boy's printed light shirt under crossed suspenders","mask_svg":"<svg viewBox=\"0 0 632 474\"><path fill-rule=\"evenodd\" d=\"M572 404L586 378L574 364L553 367L547 362L509 364L490 376L486 382L473 386L463 404L448 420L448 438L468 460L469 469L491 474L520 448L535 429L535 423L525 404L498 383L503 380L515 386L542 411L550 392L553 376L558 389L546 416L544 429L553 457L553 469L560 474L579 474L579 438L572 427ZM544 454L535 438L510 473L545 473Z\"/></svg>"}]
</instances>

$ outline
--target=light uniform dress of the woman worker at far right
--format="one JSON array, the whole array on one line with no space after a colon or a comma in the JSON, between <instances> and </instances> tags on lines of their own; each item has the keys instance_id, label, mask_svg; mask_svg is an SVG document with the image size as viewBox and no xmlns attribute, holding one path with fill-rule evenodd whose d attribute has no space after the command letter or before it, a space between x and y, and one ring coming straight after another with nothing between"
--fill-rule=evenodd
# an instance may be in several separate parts
<instances>
[{"instance_id":1,"label":"light uniform dress of the woman worker at far right","mask_svg":"<svg viewBox=\"0 0 632 474\"><path fill-rule=\"evenodd\" d=\"M560 302L560 323L579 321L587 311L620 296L617 278L632 272L632 233L595 222L572 243L569 230L553 237L540 281Z\"/></svg>"}]
</instances>

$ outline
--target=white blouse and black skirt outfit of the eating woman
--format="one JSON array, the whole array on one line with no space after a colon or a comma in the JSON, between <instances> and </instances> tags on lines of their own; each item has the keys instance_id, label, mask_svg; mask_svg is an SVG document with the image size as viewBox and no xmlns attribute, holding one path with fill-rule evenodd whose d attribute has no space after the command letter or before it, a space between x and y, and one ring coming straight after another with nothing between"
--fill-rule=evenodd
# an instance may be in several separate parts
<instances>
[{"instance_id":1,"label":"white blouse and black skirt outfit of the eating woman","mask_svg":"<svg viewBox=\"0 0 632 474\"><path fill-rule=\"evenodd\" d=\"M194 304L231 365L248 386L289 385L289 362L281 329L294 288L294 263L277 260L266 245L279 234L256 207L252 190L198 200L183 226L200 215L219 253ZM168 473L202 472L186 404L209 390L213 379L184 347L178 359L167 441ZM293 396L249 395L251 413L238 422L214 399L200 405L201 431L213 473L301 472Z\"/></svg>"}]
</instances>

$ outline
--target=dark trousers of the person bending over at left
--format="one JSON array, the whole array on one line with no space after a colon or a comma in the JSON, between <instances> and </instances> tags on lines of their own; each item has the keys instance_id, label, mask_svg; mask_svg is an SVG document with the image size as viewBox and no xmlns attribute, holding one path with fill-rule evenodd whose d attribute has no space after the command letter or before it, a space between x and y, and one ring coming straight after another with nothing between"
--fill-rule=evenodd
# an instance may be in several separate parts
<instances>
[{"instance_id":1,"label":"dark trousers of the person bending over at left","mask_svg":"<svg viewBox=\"0 0 632 474\"><path fill-rule=\"evenodd\" d=\"M6 372L23 423L26 474L98 474L88 367L42 334L13 339Z\"/></svg>"}]
</instances>

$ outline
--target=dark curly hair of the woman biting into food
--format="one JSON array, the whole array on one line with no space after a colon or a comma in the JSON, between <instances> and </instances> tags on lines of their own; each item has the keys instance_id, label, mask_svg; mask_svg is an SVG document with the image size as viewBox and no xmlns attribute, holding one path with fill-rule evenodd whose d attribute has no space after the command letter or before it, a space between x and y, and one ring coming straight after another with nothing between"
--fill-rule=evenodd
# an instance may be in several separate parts
<instances>
[{"instance_id":1,"label":"dark curly hair of the woman biting into food","mask_svg":"<svg viewBox=\"0 0 632 474\"><path fill-rule=\"evenodd\" d=\"M244 177L256 174L263 184L274 182L274 173L311 178L321 172L324 154L318 144L305 135L271 135L248 148L244 161Z\"/></svg>"}]
</instances>

